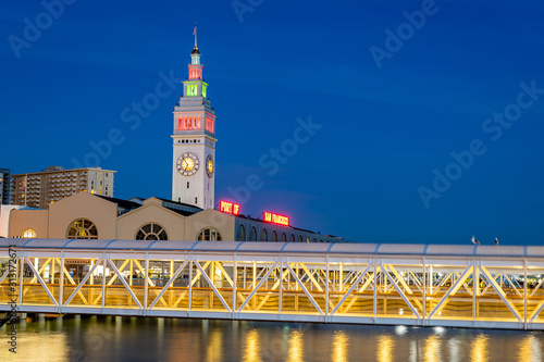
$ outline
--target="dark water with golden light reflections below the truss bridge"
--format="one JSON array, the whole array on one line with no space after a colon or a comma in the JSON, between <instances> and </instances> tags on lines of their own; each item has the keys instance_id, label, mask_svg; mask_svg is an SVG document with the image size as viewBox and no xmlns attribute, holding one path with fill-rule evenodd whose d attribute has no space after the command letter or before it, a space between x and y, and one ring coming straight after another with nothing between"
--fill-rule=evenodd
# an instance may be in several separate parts
<instances>
[{"instance_id":1,"label":"dark water with golden light reflections below the truss bridge","mask_svg":"<svg viewBox=\"0 0 544 362\"><path fill-rule=\"evenodd\" d=\"M544 333L81 316L21 322L0 361L541 361Z\"/></svg>"}]
</instances>

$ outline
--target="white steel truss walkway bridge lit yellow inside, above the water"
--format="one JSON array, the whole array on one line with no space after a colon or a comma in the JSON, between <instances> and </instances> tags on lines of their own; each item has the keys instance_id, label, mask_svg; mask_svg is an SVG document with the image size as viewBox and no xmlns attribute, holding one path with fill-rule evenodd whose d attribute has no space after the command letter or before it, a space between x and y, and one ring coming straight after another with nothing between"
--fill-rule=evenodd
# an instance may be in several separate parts
<instances>
[{"instance_id":1,"label":"white steel truss walkway bridge lit yellow inside, above the water","mask_svg":"<svg viewBox=\"0 0 544 362\"><path fill-rule=\"evenodd\" d=\"M542 247L1 239L0 263L0 310L544 329Z\"/></svg>"}]
</instances>

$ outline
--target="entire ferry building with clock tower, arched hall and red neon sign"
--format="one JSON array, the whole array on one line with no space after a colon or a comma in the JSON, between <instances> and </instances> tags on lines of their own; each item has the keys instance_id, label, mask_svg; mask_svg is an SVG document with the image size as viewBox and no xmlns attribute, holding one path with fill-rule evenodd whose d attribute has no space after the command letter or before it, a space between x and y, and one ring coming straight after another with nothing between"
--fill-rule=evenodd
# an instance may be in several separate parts
<instances>
[{"instance_id":1,"label":"entire ferry building with clock tower, arched hall and red neon sign","mask_svg":"<svg viewBox=\"0 0 544 362\"><path fill-rule=\"evenodd\" d=\"M286 215L243 215L239 204L215 200L217 117L200 51L190 53L183 96L173 112L172 198L115 199L79 192L45 209L2 205L0 237L50 239L237 240L337 242L342 238L290 225Z\"/></svg>"}]
</instances>

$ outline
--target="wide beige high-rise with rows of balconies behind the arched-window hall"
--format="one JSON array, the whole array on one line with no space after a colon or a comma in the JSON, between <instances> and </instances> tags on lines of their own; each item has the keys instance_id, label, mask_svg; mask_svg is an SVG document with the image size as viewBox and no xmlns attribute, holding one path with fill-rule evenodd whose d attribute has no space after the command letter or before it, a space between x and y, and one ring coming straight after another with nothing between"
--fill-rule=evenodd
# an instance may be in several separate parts
<instances>
[{"instance_id":1,"label":"wide beige high-rise with rows of balconies behind the arched-window hall","mask_svg":"<svg viewBox=\"0 0 544 362\"><path fill-rule=\"evenodd\" d=\"M46 209L81 191L113 197L114 173L100 167L64 170L51 166L41 172L12 175L11 203Z\"/></svg>"}]
</instances>

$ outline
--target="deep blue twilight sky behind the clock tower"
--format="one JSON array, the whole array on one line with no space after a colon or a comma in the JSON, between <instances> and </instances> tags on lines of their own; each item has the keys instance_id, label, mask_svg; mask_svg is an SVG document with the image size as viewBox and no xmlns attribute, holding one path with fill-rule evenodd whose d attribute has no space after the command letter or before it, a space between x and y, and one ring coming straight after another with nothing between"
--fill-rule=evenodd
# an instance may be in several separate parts
<instances>
[{"instance_id":1,"label":"deep blue twilight sky behind the clock tower","mask_svg":"<svg viewBox=\"0 0 544 362\"><path fill-rule=\"evenodd\" d=\"M182 88L149 102L185 78L197 21L217 200L249 176L243 213L350 240L544 242L542 1L45 2L1 5L0 167L90 165L120 129L98 159L115 197L169 198Z\"/></svg>"}]
</instances>

